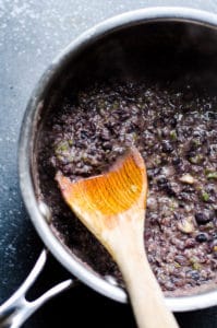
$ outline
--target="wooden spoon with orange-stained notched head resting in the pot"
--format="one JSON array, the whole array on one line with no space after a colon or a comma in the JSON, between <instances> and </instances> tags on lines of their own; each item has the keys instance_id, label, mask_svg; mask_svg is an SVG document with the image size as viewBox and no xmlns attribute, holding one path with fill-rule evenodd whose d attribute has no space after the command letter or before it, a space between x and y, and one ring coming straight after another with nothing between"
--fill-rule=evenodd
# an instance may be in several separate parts
<instances>
[{"instance_id":1,"label":"wooden spoon with orange-stained notched head resting in the pot","mask_svg":"<svg viewBox=\"0 0 217 328\"><path fill-rule=\"evenodd\" d=\"M65 202L118 263L137 326L178 327L145 254L147 176L138 151L131 149L99 176L72 183L58 173L56 179Z\"/></svg>"}]
</instances>

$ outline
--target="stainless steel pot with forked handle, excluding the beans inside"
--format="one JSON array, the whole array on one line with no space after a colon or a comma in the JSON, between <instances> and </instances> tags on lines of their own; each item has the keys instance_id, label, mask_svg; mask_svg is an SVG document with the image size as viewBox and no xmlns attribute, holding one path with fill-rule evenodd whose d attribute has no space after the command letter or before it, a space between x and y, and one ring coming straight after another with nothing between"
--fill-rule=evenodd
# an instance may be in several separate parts
<instances>
[{"instance_id":1,"label":"stainless steel pot with forked handle, excluding the beans inside","mask_svg":"<svg viewBox=\"0 0 217 328\"><path fill-rule=\"evenodd\" d=\"M134 66L137 59L140 62L141 56L146 54L148 48L153 47L153 44L156 46L156 28L158 36L160 36L158 37L160 47L164 46L161 50L168 49L167 46L169 45L168 56L171 56L171 51L184 52L186 49L190 52L192 49L195 58L197 52L200 52L200 56L204 56L207 61L204 61L204 66L201 69L204 72L209 72L208 78L207 74L205 75L206 82L210 82L210 87L214 86L215 77L217 77L215 72L217 67L217 16L208 12L184 8L137 10L109 19L88 30L72 42L52 61L32 94L21 130L19 150L21 190L31 220L45 246L79 280L103 295L122 303L128 302L125 291L113 284L112 281L107 281L92 268L84 265L75 255L70 254L50 229L50 211L44 202L38 200L36 195L35 144L48 103L50 98L56 96L55 92L51 91L57 90L57 86L60 91L64 87L68 81L65 77L68 77L69 72L71 79L74 79L77 83L85 79L87 74L100 77L108 71L112 72L112 70L121 74L135 73L132 72L130 67L131 65ZM179 34L178 38L174 37L176 33ZM124 45L128 44L128 39L132 47L129 48L126 46L126 48L128 50L132 49L132 54L129 54L130 50L128 54L125 52ZM177 48L173 47L174 45ZM178 45L180 45L179 48ZM135 56L136 51L133 51L133 47L140 50L138 54L142 54L138 56L140 58ZM160 58L160 48L156 48L154 54L155 60L158 60ZM173 55L171 56L172 58ZM161 62L162 70L164 65ZM159 66L157 67L159 69ZM152 67L148 66L148 60L145 69L148 74L152 74ZM169 70L170 66L168 65ZM61 79L61 77L65 79ZM63 82L63 80L65 81ZM36 268L31 273L32 276L21 290L0 307L2 317L0 323L2 323L2 327L19 327L47 298L73 284L72 280L69 280L39 300L31 304L26 303L24 294L29 284L36 279L45 260L46 253L44 251ZM213 306L217 304L217 288L212 288L191 296L166 297L166 303L173 312Z\"/></svg>"}]
</instances>

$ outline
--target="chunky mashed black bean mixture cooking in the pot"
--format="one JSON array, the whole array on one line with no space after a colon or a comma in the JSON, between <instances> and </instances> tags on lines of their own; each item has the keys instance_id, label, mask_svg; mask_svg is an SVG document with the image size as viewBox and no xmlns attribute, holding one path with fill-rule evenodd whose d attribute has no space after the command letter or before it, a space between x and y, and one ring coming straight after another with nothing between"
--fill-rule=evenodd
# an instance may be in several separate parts
<instances>
[{"instance_id":1,"label":"chunky mashed black bean mixture cooking in the pot","mask_svg":"<svg viewBox=\"0 0 217 328\"><path fill-rule=\"evenodd\" d=\"M158 282L170 293L217 281L217 97L183 85L96 83L63 101L40 150L48 181L57 171L71 179L92 176L126 148L141 151L149 181L145 247ZM56 204L59 231L71 215L62 213ZM70 238L68 231L64 241L74 249ZM87 249L92 237L84 238ZM118 274L107 262L105 273Z\"/></svg>"}]
</instances>

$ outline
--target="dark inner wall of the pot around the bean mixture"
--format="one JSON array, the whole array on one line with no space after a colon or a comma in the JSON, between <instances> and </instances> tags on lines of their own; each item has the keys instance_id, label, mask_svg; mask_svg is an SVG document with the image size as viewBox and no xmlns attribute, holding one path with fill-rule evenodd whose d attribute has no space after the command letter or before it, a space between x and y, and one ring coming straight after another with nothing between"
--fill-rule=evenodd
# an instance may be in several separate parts
<instances>
[{"instance_id":1,"label":"dark inner wall of the pot around the bean mixture","mask_svg":"<svg viewBox=\"0 0 217 328\"><path fill-rule=\"evenodd\" d=\"M183 90L191 83L198 94L206 89L213 97L216 77L216 30L171 20L144 22L93 37L56 66L52 79L43 91L40 116L37 112L35 116L33 176L37 198L50 209L52 233L82 266L103 279L114 279L123 285L110 256L61 199L55 181L56 171L49 162L53 149L48 138L58 112L69 101L76 105L77 94L95 83L146 81L148 85L157 84L168 90L170 85ZM214 284L189 289L185 294L202 293ZM176 291L168 294L174 295Z\"/></svg>"}]
</instances>

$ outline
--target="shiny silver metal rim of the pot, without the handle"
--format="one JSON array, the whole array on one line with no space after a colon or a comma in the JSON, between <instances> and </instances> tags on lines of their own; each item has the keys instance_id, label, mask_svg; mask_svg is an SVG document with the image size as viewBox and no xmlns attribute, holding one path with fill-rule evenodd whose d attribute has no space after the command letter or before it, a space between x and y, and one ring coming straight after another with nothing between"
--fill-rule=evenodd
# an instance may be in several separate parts
<instances>
[{"instance_id":1,"label":"shiny silver metal rim of the pot, without the handle","mask_svg":"<svg viewBox=\"0 0 217 328\"><path fill-rule=\"evenodd\" d=\"M36 114L43 107L43 99L46 89L55 79L57 72L72 59L76 54L82 51L86 46L95 43L97 39L114 31L138 25L141 23L174 21L189 22L196 25L204 25L217 30L217 15L191 8L181 7L153 7L122 13L110 17L88 31L81 34L47 68L35 90L32 93L24 115L19 143L19 177L21 194L31 220L47 246L59 262L71 273L76 276L82 282L95 291L106 295L114 301L126 303L126 293L119 286L108 282L86 268L70 254L67 248L51 232L45 215L38 204L34 190L32 177L32 150L33 150L33 130L36 125ZM167 306L173 312L184 312L200 309L217 304L217 289L197 295L166 297Z\"/></svg>"}]
</instances>

